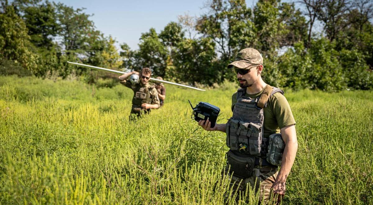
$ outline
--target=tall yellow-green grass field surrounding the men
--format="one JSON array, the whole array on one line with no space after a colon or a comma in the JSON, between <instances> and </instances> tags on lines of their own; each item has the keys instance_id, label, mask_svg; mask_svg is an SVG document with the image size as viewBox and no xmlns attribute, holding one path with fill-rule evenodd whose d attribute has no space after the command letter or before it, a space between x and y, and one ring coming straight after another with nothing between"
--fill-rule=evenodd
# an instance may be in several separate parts
<instances>
[{"instance_id":1,"label":"tall yellow-green grass field surrounding the men","mask_svg":"<svg viewBox=\"0 0 373 205\"><path fill-rule=\"evenodd\" d=\"M0 77L0 204L233 204L225 134L198 127L188 99L217 105L225 123L236 89L167 86L162 109L129 122L119 83ZM372 91L285 96L299 148L283 202L373 204Z\"/></svg>"}]
</instances>

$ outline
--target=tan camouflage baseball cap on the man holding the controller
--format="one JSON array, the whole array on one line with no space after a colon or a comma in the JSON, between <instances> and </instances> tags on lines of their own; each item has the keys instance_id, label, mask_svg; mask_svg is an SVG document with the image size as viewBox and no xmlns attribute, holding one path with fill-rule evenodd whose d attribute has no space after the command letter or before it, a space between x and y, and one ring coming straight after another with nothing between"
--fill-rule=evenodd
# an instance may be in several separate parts
<instances>
[{"instance_id":1,"label":"tan camouflage baseball cap on the man holding the controller","mask_svg":"<svg viewBox=\"0 0 373 205\"><path fill-rule=\"evenodd\" d=\"M238 67L245 69L251 66L251 64L263 64L263 57L256 49L245 48L238 52L233 63L229 64L228 68Z\"/></svg>"}]
</instances>

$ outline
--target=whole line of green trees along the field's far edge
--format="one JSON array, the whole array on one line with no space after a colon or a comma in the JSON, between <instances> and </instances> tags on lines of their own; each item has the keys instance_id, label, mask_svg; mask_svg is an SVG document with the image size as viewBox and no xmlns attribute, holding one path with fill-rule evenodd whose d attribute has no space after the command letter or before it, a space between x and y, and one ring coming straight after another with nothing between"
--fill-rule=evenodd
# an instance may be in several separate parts
<instances>
[{"instance_id":1,"label":"whole line of green trees along the field's far edge","mask_svg":"<svg viewBox=\"0 0 373 205\"><path fill-rule=\"evenodd\" d=\"M227 69L239 50L253 47L264 57L265 82L293 89L371 89L373 4L369 0L302 1L305 8L280 0L212 0L206 13L181 16L157 33L142 33L139 49L98 31L84 8L44 0L1 0L0 59L41 78L79 78L97 86L112 75L74 67L66 60L112 69L150 67L154 76L188 84L236 81ZM302 13L305 10L307 13ZM315 32L315 19L323 30ZM189 37L186 37L187 32ZM325 36L325 37L323 37ZM57 40L58 42L53 42ZM3 63L4 64L4 63ZM354 67L352 69L351 65ZM22 70L17 68L17 70Z\"/></svg>"}]
</instances>

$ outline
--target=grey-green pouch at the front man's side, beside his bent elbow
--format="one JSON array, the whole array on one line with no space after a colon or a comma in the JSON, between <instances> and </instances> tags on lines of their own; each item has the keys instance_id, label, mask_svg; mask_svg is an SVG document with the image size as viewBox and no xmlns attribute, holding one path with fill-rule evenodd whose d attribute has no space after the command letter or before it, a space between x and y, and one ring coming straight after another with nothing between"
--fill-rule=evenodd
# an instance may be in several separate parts
<instances>
[{"instance_id":1,"label":"grey-green pouch at the front man's side, beside his bent elbow","mask_svg":"<svg viewBox=\"0 0 373 205\"><path fill-rule=\"evenodd\" d=\"M284 149L285 142L282 140L281 133L275 133L270 135L267 152L267 161L270 164L281 166L282 154Z\"/></svg>"}]
</instances>

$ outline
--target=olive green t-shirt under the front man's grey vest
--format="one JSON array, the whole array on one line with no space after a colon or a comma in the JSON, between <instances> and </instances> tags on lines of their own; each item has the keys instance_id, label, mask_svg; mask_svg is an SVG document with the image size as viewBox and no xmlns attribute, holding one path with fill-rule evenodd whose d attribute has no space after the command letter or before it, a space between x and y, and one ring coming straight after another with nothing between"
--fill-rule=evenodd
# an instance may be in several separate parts
<instances>
[{"instance_id":1,"label":"olive green t-shirt under the front man's grey vest","mask_svg":"<svg viewBox=\"0 0 373 205\"><path fill-rule=\"evenodd\" d=\"M260 97L264 89L256 94L247 94L246 97L257 98ZM237 92L232 95L232 111L237 102ZM267 107L264 111L264 137L268 137L273 133L280 133L280 129L291 124L295 124L293 113L285 96L277 92L273 94L267 101Z\"/></svg>"}]
</instances>

